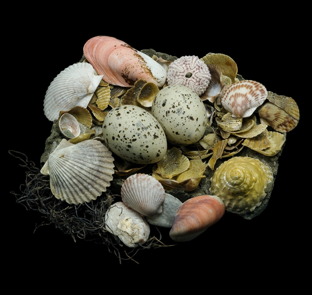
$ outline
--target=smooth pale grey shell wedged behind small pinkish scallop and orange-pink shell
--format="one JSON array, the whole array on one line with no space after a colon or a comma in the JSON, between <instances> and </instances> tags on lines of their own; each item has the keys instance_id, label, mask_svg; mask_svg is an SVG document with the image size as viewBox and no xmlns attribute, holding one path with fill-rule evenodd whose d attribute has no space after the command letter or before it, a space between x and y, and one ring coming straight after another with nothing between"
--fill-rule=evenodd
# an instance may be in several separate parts
<instances>
[{"instance_id":1,"label":"smooth pale grey shell wedged behind small pinkish scallop and orange-pink shell","mask_svg":"<svg viewBox=\"0 0 312 295\"><path fill-rule=\"evenodd\" d=\"M162 212L151 217L147 216L146 219L150 224L171 228L182 202L170 194L165 195L165 200L162 203Z\"/></svg>"}]
</instances>

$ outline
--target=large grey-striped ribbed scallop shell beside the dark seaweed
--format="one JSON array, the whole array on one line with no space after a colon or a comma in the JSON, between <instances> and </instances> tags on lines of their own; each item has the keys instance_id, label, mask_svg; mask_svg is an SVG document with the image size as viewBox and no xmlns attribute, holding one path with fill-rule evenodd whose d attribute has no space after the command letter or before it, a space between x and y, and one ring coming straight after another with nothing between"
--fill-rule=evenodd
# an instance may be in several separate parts
<instances>
[{"instance_id":1,"label":"large grey-striped ribbed scallop shell beside the dark seaweed","mask_svg":"<svg viewBox=\"0 0 312 295\"><path fill-rule=\"evenodd\" d=\"M51 191L57 199L78 205L106 191L113 179L113 161L112 153L97 140L73 145L63 139L40 172L50 175Z\"/></svg>"}]
</instances>

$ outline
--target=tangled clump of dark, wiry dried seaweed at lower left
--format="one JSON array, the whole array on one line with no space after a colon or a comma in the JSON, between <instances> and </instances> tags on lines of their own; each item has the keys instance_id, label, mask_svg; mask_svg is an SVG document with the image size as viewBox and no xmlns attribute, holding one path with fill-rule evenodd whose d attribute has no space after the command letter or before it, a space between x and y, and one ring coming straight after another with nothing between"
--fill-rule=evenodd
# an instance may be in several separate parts
<instances>
[{"instance_id":1,"label":"tangled clump of dark, wiry dried seaweed at lower left","mask_svg":"<svg viewBox=\"0 0 312 295\"><path fill-rule=\"evenodd\" d=\"M75 236L77 236L88 241L105 244L109 252L111 252L110 246L112 246L120 263L122 260L133 260L133 256L140 249L165 246L160 242L161 234L157 229L159 238L153 236L144 245L128 252L120 239L107 232L104 227L104 216L114 201L114 196L111 196L109 192L104 192L90 203L69 205L54 197L50 189L50 177L41 174L40 169L35 167L32 161L28 161L25 154L14 150L9 150L9 154L20 159L23 164L19 165L28 169L26 171L26 184L20 185L21 194L11 192L15 195L16 202L23 205L27 210L39 211L48 220L48 223L42 222L37 228L42 225L54 224L64 234L71 235L74 241L76 241ZM120 248L124 249L127 258L121 257Z\"/></svg>"}]
</instances>

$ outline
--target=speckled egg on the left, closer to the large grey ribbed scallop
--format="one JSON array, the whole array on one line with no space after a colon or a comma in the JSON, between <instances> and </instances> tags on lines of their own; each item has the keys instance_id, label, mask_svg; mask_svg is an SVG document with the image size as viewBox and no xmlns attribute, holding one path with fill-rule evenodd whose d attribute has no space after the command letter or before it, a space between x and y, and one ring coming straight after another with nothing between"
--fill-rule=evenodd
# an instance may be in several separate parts
<instances>
[{"instance_id":1,"label":"speckled egg on the left, closer to the large grey ribbed scallop","mask_svg":"<svg viewBox=\"0 0 312 295\"><path fill-rule=\"evenodd\" d=\"M131 163L155 163L167 151L166 136L159 122L144 109L132 105L107 113L103 138L116 155Z\"/></svg>"}]
</instances>

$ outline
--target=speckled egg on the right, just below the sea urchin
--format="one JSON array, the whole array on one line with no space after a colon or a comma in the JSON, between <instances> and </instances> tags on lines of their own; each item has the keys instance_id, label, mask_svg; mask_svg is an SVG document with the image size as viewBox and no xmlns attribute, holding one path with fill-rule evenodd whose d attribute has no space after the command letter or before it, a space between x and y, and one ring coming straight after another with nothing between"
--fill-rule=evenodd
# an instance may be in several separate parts
<instances>
[{"instance_id":1,"label":"speckled egg on the right, just below the sea urchin","mask_svg":"<svg viewBox=\"0 0 312 295\"><path fill-rule=\"evenodd\" d=\"M208 118L200 97L182 85L161 89L153 101L152 115L166 137L176 144L192 144L205 133Z\"/></svg>"}]
</instances>

